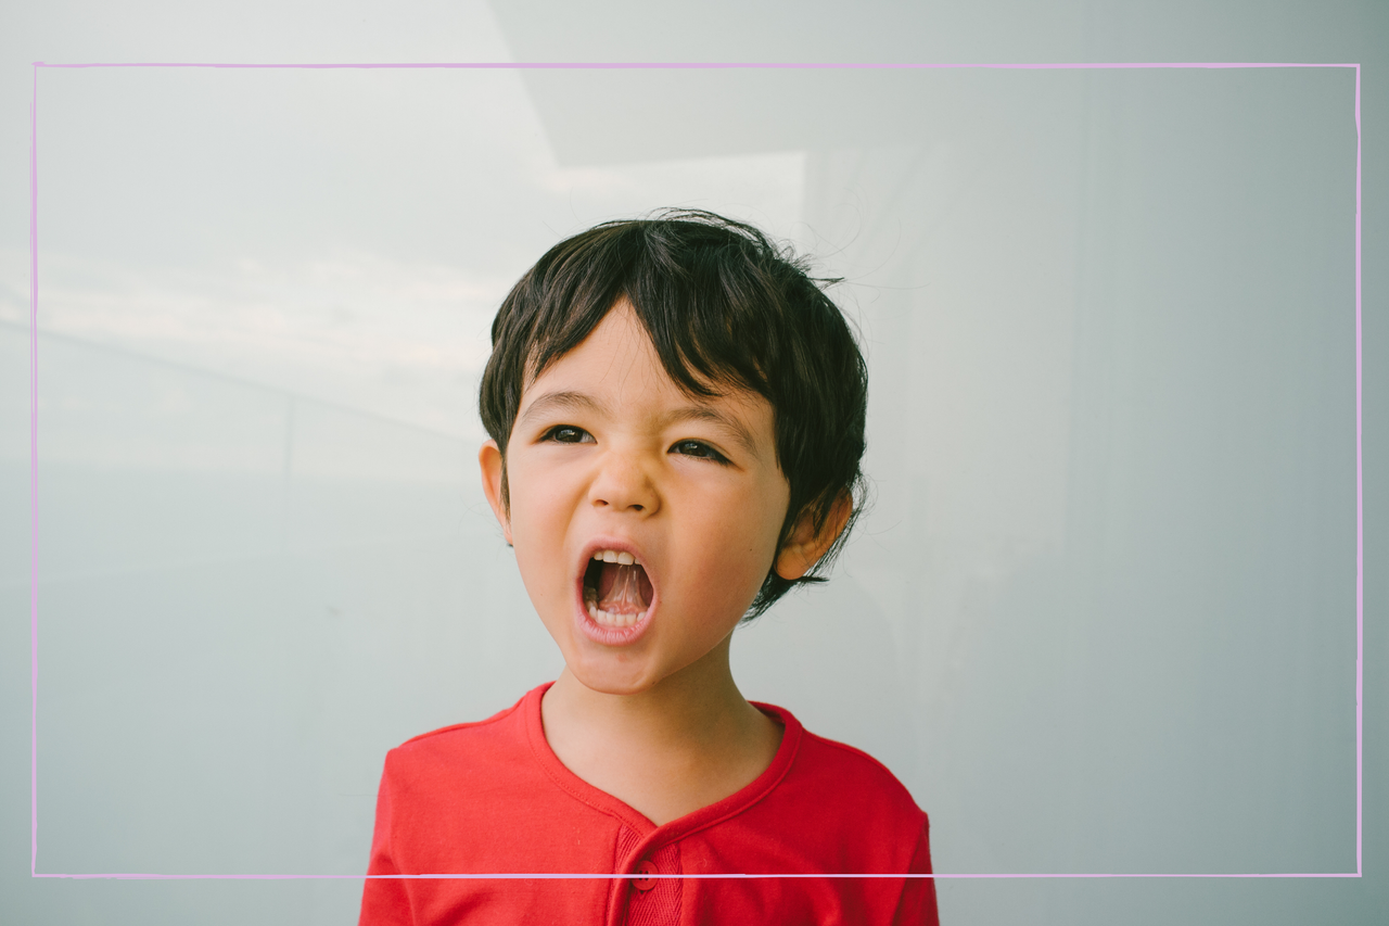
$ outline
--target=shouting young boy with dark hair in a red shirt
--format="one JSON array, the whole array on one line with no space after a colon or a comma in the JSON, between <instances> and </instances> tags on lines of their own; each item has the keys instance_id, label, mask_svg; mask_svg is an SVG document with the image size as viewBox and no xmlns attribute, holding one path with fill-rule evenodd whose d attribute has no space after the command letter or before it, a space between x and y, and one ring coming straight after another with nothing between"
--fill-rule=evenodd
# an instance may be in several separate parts
<instances>
[{"instance_id":1,"label":"shouting young boy with dark hair in a red shirt","mask_svg":"<svg viewBox=\"0 0 1389 926\"><path fill-rule=\"evenodd\" d=\"M757 229L672 211L556 245L492 345L482 484L565 669L390 751L361 923L935 923L907 790L729 670L853 520L835 304ZM581 877L392 877L467 873Z\"/></svg>"}]
</instances>

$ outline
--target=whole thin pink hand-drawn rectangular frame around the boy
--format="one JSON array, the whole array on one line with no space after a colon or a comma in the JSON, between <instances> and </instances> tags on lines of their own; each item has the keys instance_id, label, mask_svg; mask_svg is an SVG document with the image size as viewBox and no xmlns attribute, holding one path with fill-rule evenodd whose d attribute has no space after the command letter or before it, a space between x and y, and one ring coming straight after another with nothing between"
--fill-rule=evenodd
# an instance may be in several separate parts
<instances>
[{"instance_id":1,"label":"whole thin pink hand-drawn rectangular frame around the boy","mask_svg":"<svg viewBox=\"0 0 1389 926\"><path fill-rule=\"evenodd\" d=\"M1231 875L1117 875L1117 873L961 873L907 875L932 879L1014 879L1014 877L1361 877L1364 848L1364 467L1361 455L1361 138L1360 128L1360 64L1317 63L1072 63L1072 64L825 64L825 63L396 63L396 64L219 64L219 63L33 63L33 97L29 104L29 876L68 879L133 879L133 880L343 880L368 877L386 879L621 879L626 875L589 873L494 873L494 875L157 875L117 872L104 875L64 875L36 870L39 858L39 70L40 68L268 68L268 70L1117 70L1117 68L1354 68L1356 70L1356 870L1354 872L1288 872L1288 873L1231 873ZM903 877L901 875L653 875L651 877L707 879L707 877Z\"/></svg>"}]
</instances>

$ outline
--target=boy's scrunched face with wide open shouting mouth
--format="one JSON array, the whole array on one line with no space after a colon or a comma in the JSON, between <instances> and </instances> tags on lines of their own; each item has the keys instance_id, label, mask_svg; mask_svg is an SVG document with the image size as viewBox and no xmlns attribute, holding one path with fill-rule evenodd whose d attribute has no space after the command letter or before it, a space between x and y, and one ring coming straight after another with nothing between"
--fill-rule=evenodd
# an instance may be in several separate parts
<instances>
[{"instance_id":1,"label":"boy's scrunched face with wide open shouting mouth","mask_svg":"<svg viewBox=\"0 0 1389 926\"><path fill-rule=\"evenodd\" d=\"M540 620L608 694L713 658L772 566L790 495L771 405L683 393L625 303L522 393L510 513L496 444L479 459Z\"/></svg>"}]
</instances>

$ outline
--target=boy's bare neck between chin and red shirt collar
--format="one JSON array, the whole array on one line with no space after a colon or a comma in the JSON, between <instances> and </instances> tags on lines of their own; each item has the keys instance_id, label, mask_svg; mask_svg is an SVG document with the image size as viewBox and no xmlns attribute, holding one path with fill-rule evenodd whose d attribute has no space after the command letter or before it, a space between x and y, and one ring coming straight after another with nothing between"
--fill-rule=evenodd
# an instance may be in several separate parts
<instances>
[{"instance_id":1,"label":"boy's bare neck between chin and red shirt collar","mask_svg":"<svg viewBox=\"0 0 1389 926\"><path fill-rule=\"evenodd\" d=\"M565 669L540 704L551 751L657 825L742 790L771 765L782 727L738 691L728 645L636 694L594 691Z\"/></svg>"}]
</instances>

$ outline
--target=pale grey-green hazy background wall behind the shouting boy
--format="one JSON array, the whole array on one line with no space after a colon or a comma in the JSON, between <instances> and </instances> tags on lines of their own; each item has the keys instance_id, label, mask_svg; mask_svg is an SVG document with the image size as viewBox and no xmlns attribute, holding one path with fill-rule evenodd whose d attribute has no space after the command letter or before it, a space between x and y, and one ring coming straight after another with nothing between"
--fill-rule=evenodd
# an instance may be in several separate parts
<instances>
[{"instance_id":1,"label":"pale grey-green hazy background wall behind the shouting boy","mask_svg":"<svg viewBox=\"0 0 1389 926\"><path fill-rule=\"evenodd\" d=\"M669 6L669 8L665 8ZM949 923L1376 922L1386 22L1372 4L10 8L0 919L353 922L357 882L28 877L35 58L1361 61L1365 879L942 882ZM875 506L739 631L942 872L1354 869L1353 78L44 71L46 872L346 873L381 756L553 677L474 476L486 325L658 204L820 257Z\"/></svg>"}]
</instances>

